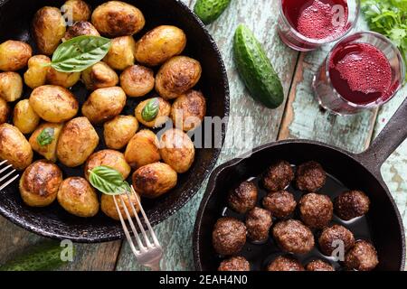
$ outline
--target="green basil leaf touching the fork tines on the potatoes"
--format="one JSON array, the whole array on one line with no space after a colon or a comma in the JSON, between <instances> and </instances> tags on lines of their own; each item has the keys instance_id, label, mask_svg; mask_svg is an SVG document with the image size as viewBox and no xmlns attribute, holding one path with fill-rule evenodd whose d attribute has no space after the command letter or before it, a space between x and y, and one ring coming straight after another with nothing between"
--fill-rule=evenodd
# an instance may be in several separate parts
<instances>
[{"instance_id":1,"label":"green basil leaf touching the fork tines on the potatoes","mask_svg":"<svg viewBox=\"0 0 407 289\"><path fill-rule=\"evenodd\" d=\"M91 170L89 181L93 187L107 195L119 195L131 190L121 173L109 166L101 165Z\"/></svg>"}]
</instances>

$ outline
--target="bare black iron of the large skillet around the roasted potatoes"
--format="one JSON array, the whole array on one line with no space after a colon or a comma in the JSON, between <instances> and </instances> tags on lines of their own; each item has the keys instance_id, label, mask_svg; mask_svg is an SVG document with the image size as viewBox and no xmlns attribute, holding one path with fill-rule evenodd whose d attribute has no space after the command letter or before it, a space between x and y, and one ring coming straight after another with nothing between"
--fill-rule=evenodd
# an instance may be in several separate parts
<instances>
[{"instance_id":1,"label":"bare black iron of the large skillet around the roasted potatoes","mask_svg":"<svg viewBox=\"0 0 407 289\"><path fill-rule=\"evenodd\" d=\"M61 7L64 1L26 1L26 0L0 0L0 42L8 39L30 42L35 47L30 36L30 23L33 14L45 5ZM106 1L86 0L92 8ZM128 1L136 5L146 16L145 29L135 35L136 40L148 30L160 24L173 24L182 28L188 38L185 55L191 56L201 62L203 77L198 85L207 98L208 117L226 117L229 115L229 88L222 57L212 37L204 29L204 24L178 0L137 0ZM24 71L21 71L24 72ZM82 104L88 92L80 84L75 86L73 93ZM30 90L24 89L24 98L28 98ZM151 96L149 96L151 97ZM145 98L142 98L143 100ZM140 99L128 98L128 104L122 114L134 115L134 108ZM100 144L97 150L105 148L101 127L96 127L99 133ZM205 131L203 129L203 131ZM222 128L222 141L225 127ZM208 137L210 135L204 135ZM214 139L214 138L212 138ZM218 147L222 144L218 144ZM219 156L220 149L198 149L196 159L191 170L179 176L175 190L157 200L143 200L147 215L153 225L182 208L200 188L202 182ZM38 156L37 156L38 158ZM83 175L83 167L69 169L62 168L64 177ZM103 213L95 218L80 219L66 213L54 203L51 207L33 209L24 205L21 200L18 184L0 193L0 213L15 224L50 238L69 238L76 242L103 242L123 238L119 222L110 220Z\"/></svg>"}]
</instances>

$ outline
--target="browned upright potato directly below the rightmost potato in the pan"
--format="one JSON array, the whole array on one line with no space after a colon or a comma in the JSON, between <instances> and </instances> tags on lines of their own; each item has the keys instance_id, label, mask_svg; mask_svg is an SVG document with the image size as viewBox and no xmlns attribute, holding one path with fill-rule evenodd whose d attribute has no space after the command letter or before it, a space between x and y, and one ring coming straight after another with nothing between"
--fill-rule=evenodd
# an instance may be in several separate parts
<instances>
[{"instance_id":1,"label":"browned upright potato directly below the rightmost potato in the pan","mask_svg":"<svg viewBox=\"0 0 407 289\"><path fill-rule=\"evenodd\" d=\"M175 172L184 173L194 163L194 143L182 130L169 129L161 135L160 154Z\"/></svg>"}]
</instances>

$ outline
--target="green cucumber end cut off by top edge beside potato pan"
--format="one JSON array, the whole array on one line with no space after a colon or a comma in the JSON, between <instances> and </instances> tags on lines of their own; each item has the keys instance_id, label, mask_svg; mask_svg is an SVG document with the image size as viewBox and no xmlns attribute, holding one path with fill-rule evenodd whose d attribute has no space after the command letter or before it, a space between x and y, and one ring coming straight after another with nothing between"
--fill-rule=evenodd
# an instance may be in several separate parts
<instances>
[{"instance_id":1,"label":"green cucumber end cut off by top edge beside potato pan","mask_svg":"<svg viewBox=\"0 0 407 289\"><path fill-rule=\"evenodd\" d=\"M194 13L205 24L213 23L225 11L231 0L198 0L194 6Z\"/></svg>"}]
</instances>

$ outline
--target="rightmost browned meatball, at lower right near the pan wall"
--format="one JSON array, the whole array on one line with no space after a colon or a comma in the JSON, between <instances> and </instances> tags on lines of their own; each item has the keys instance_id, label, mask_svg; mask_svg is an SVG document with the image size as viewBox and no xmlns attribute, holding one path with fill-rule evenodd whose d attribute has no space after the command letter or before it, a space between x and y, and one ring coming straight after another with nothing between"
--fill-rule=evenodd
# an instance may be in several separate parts
<instances>
[{"instance_id":1,"label":"rightmost browned meatball, at lower right near the pan wall","mask_svg":"<svg viewBox=\"0 0 407 289\"><path fill-rule=\"evenodd\" d=\"M376 249L364 240L357 241L345 256L345 267L348 270L372 271L378 264Z\"/></svg>"}]
</instances>

